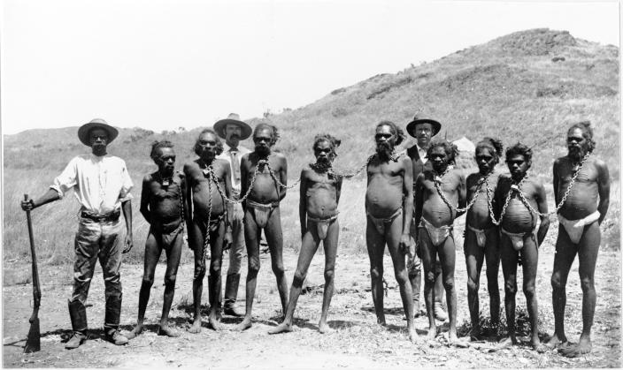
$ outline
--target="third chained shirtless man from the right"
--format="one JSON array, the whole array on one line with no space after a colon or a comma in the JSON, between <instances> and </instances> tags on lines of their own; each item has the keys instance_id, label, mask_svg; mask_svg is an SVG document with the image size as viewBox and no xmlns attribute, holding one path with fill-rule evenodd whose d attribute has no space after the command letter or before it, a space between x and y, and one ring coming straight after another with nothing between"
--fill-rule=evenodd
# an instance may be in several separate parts
<instances>
[{"instance_id":1,"label":"third chained shirtless man from the right","mask_svg":"<svg viewBox=\"0 0 623 370\"><path fill-rule=\"evenodd\" d=\"M502 156L502 141L484 138L476 145L478 172L467 177L467 202L474 201L465 216L465 264L467 265L467 302L472 319L473 340L481 339L478 288L481 281L482 261L487 260L487 283L491 323L500 323L500 291L497 273L500 268L500 237L497 226L491 221L488 198L493 198L499 173L496 164ZM485 183L486 181L486 183ZM488 193L490 188L493 193ZM475 200L474 197L476 197Z\"/></svg>"}]
</instances>

